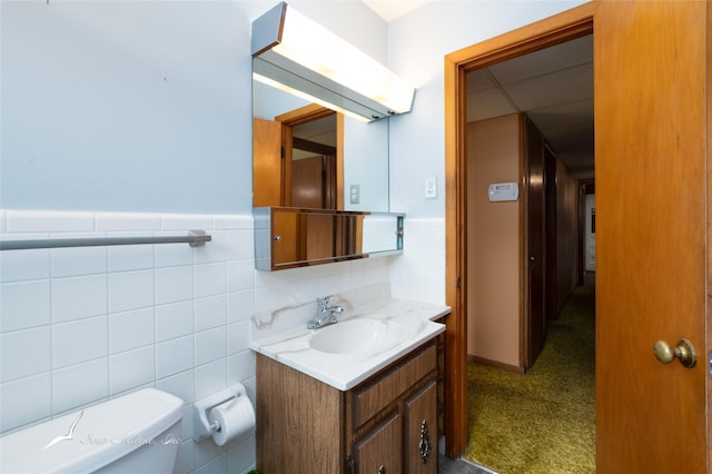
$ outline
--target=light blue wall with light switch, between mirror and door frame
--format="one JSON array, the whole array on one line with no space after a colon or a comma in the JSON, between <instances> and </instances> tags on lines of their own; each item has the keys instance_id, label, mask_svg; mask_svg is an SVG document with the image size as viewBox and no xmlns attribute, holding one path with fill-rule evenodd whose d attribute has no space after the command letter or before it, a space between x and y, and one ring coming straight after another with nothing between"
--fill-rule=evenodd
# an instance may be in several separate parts
<instances>
[{"instance_id":1,"label":"light blue wall with light switch, between mirror and door frame","mask_svg":"<svg viewBox=\"0 0 712 474\"><path fill-rule=\"evenodd\" d=\"M417 88L413 112L390 120L390 206L445 216L444 57L583 1L435 0L388 24L388 66ZM437 178L436 199L425 178Z\"/></svg>"}]
</instances>

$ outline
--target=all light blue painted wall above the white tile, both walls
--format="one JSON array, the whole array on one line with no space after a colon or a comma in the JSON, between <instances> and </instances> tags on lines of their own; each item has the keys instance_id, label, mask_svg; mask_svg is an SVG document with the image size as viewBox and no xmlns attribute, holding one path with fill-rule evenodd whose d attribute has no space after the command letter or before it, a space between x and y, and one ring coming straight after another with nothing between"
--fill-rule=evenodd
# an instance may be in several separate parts
<instances>
[{"instance_id":1,"label":"all light blue painted wall above the white tile, both walls","mask_svg":"<svg viewBox=\"0 0 712 474\"><path fill-rule=\"evenodd\" d=\"M249 29L275 3L3 0L0 207L249 214ZM583 2L436 0L388 24L359 1L290 3L416 86L390 120L390 208L429 218L443 57Z\"/></svg>"}]
</instances>

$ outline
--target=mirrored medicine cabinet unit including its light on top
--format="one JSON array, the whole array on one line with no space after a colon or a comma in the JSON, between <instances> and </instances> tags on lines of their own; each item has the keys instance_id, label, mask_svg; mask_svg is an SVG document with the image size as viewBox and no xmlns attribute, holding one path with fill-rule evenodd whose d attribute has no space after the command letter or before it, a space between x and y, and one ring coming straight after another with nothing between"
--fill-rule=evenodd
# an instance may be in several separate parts
<instances>
[{"instance_id":1,"label":"mirrored medicine cabinet unit including its light on top","mask_svg":"<svg viewBox=\"0 0 712 474\"><path fill-rule=\"evenodd\" d=\"M405 90L400 98L408 103L403 109L384 110L385 103L370 96L374 90L366 96L356 90L370 81L330 82L326 78L333 70L330 62L306 70L308 61L267 61L266 56L276 59L278 48L285 55L290 50L283 43L289 37L283 31L287 29L286 11L286 3L281 3L253 22L253 71L261 77L253 78L255 267L278 270L400 253L404 215L388 214L388 117L411 110L414 89L402 88L399 79L378 66L386 72L375 76L375 82L380 82L378 100L388 102L392 92ZM257 23L270 27L256 28ZM323 29L312 23L307 31L316 30ZM294 32L291 37L304 39ZM325 43L332 45L318 42ZM319 49L313 46L306 51ZM365 70L358 69L362 73ZM279 78L287 78L281 86ZM384 86L388 93L382 95ZM334 110L313 103L319 100L314 97L335 103L330 106ZM339 102L342 99L348 107ZM359 118L352 116L355 109L359 109Z\"/></svg>"}]
</instances>

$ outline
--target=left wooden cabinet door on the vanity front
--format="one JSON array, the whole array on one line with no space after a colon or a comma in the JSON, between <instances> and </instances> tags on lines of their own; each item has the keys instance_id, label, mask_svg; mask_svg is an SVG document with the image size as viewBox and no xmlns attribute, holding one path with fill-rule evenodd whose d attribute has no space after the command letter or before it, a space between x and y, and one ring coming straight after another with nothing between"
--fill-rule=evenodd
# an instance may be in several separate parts
<instances>
[{"instance_id":1,"label":"left wooden cabinet door on the vanity front","mask_svg":"<svg viewBox=\"0 0 712 474\"><path fill-rule=\"evenodd\" d=\"M403 471L402 427L398 412L367 433L354 446L356 473L400 474Z\"/></svg>"}]
</instances>

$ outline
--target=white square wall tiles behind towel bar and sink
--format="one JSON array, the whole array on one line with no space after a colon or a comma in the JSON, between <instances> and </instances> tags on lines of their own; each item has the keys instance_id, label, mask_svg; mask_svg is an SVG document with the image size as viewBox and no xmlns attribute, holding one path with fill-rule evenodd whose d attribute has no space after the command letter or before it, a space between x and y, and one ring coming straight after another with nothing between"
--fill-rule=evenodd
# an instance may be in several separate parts
<instances>
[{"instance_id":1,"label":"white square wall tiles behind towel bar and sink","mask_svg":"<svg viewBox=\"0 0 712 474\"><path fill-rule=\"evenodd\" d=\"M255 314L380 282L395 297L444 303L442 220L406 218L400 256L266 273L254 269L249 215L0 210L4 240L190 229L212 240L0 254L0 433L146 386L189 408L241 382L254 402ZM191 416L182 435L178 473L254 466L254 436L194 443Z\"/></svg>"}]
</instances>

